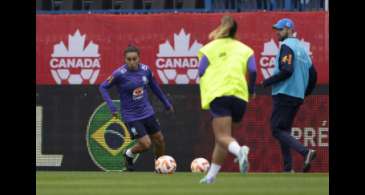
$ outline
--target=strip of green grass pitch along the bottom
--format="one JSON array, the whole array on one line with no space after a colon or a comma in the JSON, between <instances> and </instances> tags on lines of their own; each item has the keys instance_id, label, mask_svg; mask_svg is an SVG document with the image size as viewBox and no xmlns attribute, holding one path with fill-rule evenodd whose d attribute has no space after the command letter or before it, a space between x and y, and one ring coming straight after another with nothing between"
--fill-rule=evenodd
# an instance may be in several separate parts
<instances>
[{"instance_id":1,"label":"strip of green grass pitch along the bottom","mask_svg":"<svg viewBox=\"0 0 365 195\"><path fill-rule=\"evenodd\" d=\"M203 174L177 172L37 171L37 195L327 195L327 173L220 173L214 184L199 184Z\"/></svg>"}]
</instances>

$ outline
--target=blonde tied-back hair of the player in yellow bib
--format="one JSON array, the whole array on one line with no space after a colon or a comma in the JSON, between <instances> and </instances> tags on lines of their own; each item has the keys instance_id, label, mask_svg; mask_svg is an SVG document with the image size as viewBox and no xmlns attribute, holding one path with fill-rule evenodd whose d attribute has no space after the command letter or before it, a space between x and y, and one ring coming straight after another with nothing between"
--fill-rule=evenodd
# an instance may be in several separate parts
<instances>
[{"instance_id":1,"label":"blonde tied-back hair of the player in yellow bib","mask_svg":"<svg viewBox=\"0 0 365 195\"><path fill-rule=\"evenodd\" d=\"M209 34L209 39L219 39L224 37L234 38L237 32L237 22L232 16L225 15L221 18L220 25Z\"/></svg>"}]
</instances>

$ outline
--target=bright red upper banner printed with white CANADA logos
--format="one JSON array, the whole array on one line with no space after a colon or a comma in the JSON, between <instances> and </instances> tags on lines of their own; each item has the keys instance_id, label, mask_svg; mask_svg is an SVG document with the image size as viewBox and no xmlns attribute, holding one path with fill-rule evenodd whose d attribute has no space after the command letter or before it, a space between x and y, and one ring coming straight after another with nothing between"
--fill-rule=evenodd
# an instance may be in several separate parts
<instances>
[{"instance_id":1,"label":"bright red upper banner printed with white CANADA logos","mask_svg":"<svg viewBox=\"0 0 365 195\"><path fill-rule=\"evenodd\" d=\"M196 53L223 14L37 15L37 84L98 84L123 63L129 43L141 49L163 84L195 84ZM318 71L328 84L328 13L253 12L231 14L237 37L255 51L258 81L272 71L278 50L271 26L289 17Z\"/></svg>"}]
</instances>

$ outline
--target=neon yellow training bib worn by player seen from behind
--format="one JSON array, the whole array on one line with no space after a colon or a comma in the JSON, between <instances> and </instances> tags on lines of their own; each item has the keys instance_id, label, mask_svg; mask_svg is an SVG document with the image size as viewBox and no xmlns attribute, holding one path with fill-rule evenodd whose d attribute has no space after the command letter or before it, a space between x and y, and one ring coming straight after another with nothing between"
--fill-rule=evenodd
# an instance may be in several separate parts
<instances>
[{"instance_id":1,"label":"neon yellow training bib worn by player seen from behind","mask_svg":"<svg viewBox=\"0 0 365 195\"><path fill-rule=\"evenodd\" d=\"M253 50L232 38L216 39L199 50L199 60L205 55L209 65L200 78L202 109L210 108L216 97L235 96L248 102L246 81L247 61Z\"/></svg>"}]
</instances>

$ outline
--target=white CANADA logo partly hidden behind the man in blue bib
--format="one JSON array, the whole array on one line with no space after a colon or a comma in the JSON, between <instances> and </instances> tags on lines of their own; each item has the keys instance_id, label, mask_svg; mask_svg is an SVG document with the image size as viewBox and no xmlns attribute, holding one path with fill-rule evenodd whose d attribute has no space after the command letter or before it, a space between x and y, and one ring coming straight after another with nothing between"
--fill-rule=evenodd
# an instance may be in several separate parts
<instances>
[{"instance_id":1,"label":"white CANADA logo partly hidden behind the man in blue bib","mask_svg":"<svg viewBox=\"0 0 365 195\"><path fill-rule=\"evenodd\" d=\"M304 41L304 39L301 39L300 41L303 44L304 49L311 56L312 53L310 51L310 43ZM279 52L280 46L281 42L279 42L279 45L277 45L274 39L270 39L270 41L264 43L264 51L261 52L260 57L260 67L262 75L265 79L271 77L273 74L276 54Z\"/></svg>"}]
</instances>

